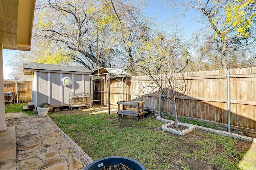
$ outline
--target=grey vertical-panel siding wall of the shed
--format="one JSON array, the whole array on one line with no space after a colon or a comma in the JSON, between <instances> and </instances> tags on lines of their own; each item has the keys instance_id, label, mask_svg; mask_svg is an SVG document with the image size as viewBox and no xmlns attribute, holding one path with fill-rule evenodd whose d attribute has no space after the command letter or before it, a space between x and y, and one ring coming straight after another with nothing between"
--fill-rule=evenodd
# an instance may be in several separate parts
<instances>
[{"instance_id":1,"label":"grey vertical-panel siding wall of the shed","mask_svg":"<svg viewBox=\"0 0 256 170\"><path fill-rule=\"evenodd\" d=\"M90 79L86 74L68 74L53 72L36 72L34 74L36 84L36 107L48 102L53 106L69 105L69 92L90 92ZM70 77L72 85L65 87L62 85L63 77ZM49 80L49 81L48 81Z\"/></svg>"}]
</instances>

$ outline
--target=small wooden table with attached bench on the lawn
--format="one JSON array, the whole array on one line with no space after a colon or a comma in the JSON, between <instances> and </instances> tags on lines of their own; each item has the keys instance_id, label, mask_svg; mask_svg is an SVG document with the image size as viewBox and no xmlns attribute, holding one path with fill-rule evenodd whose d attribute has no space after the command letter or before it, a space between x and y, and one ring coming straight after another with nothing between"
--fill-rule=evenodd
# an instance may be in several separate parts
<instances>
[{"instance_id":1,"label":"small wooden table with attached bench on the lawn","mask_svg":"<svg viewBox=\"0 0 256 170\"><path fill-rule=\"evenodd\" d=\"M144 118L144 104L143 101L132 101L132 100L122 100L117 102L118 104L118 119L122 119L123 115L135 116L135 121L139 121ZM122 109L120 107L122 105ZM132 107L131 107L132 106ZM141 107L141 108L140 108Z\"/></svg>"}]
</instances>

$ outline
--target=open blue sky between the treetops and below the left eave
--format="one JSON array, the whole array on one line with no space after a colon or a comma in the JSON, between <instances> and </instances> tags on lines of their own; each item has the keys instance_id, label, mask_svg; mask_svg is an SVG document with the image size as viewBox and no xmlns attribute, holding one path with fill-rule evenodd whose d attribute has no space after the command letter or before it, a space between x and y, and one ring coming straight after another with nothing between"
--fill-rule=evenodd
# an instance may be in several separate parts
<instances>
[{"instance_id":1,"label":"open blue sky between the treetops and below the left eave","mask_svg":"<svg viewBox=\"0 0 256 170\"><path fill-rule=\"evenodd\" d=\"M181 10L174 11L170 7L164 5L164 2L166 1L147 0L148 5L144 10L144 13L146 13L152 20L156 19L156 22L162 23L159 24L158 29L164 30L168 33L172 33L173 30L181 30L182 38L188 40L191 38L192 33L204 26L193 19L196 18L197 14L195 10L189 10L186 13L186 16L182 16L181 20L177 20L177 17L180 16ZM8 67L7 60L9 60L16 52L16 50L3 50L4 79L13 78L8 76L12 70Z\"/></svg>"}]
</instances>

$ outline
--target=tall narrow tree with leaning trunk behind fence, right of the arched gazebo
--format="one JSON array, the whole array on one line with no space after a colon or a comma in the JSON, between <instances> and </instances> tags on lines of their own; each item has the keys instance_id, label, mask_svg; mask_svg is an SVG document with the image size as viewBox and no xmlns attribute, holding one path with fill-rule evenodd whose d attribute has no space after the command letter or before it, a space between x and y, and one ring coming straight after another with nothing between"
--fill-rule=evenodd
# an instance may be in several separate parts
<instances>
[{"instance_id":1,"label":"tall narrow tree with leaning trunk behind fence, right of the arched gazebo","mask_svg":"<svg viewBox=\"0 0 256 170\"><path fill-rule=\"evenodd\" d=\"M116 18L116 36L118 42L124 46L129 59L127 70L131 74L136 74L136 69L133 67L134 60L136 60L136 51L141 46L141 42L145 36L150 32L148 22L142 13L134 6L132 2L123 4L122 1L109 0L112 7L112 14ZM127 8L129 6L129 8ZM130 22L127 22L130 21Z\"/></svg>"}]
</instances>

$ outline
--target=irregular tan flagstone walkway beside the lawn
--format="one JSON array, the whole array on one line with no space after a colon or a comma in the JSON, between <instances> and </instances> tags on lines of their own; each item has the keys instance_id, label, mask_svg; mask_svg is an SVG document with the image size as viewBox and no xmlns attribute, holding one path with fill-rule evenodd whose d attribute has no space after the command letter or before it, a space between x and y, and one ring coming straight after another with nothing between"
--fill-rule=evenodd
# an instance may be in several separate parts
<instances>
[{"instance_id":1,"label":"irregular tan flagstone walkway beside the lawn","mask_svg":"<svg viewBox=\"0 0 256 170\"><path fill-rule=\"evenodd\" d=\"M50 117L16 121L17 170L83 170L93 162Z\"/></svg>"}]
</instances>

